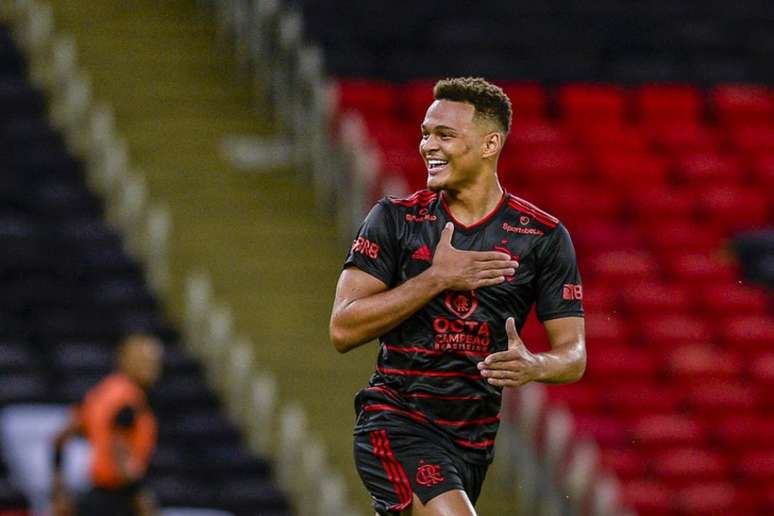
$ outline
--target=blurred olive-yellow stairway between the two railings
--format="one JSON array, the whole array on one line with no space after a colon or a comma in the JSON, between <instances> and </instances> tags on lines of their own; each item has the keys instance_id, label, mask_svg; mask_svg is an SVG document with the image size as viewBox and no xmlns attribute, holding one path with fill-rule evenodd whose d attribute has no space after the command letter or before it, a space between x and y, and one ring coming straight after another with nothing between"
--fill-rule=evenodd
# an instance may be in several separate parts
<instances>
[{"instance_id":1,"label":"blurred olive-yellow stairway between the two railings","mask_svg":"<svg viewBox=\"0 0 774 516\"><path fill-rule=\"evenodd\" d=\"M221 157L223 136L271 127L217 43L214 20L190 0L52 4L57 29L75 36L95 97L113 106L151 197L170 208L171 315L179 322L186 273L209 271L259 364L277 375L282 400L303 403L356 507L370 512L351 459L352 397L375 350L342 357L327 341L346 250L314 209L304 174L240 172Z\"/></svg>"}]
</instances>

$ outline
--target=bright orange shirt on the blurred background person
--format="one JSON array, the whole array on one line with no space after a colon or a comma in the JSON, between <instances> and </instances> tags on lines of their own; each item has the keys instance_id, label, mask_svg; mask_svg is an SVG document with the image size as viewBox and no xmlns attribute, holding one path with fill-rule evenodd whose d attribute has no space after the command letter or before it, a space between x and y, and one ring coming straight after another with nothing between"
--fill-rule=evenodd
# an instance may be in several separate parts
<instances>
[{"instance_id":1,"label":"bright orange shirt on the blurred background person","mask_svg":"<svg viewBox=\"0 0 774 516\"><path fill-rule=\"evenodd\" d=\"M119 425L119 413L130 409L133 421ZM128 482L116 463L116 454L128 455L132 476L142 478L156 446L156 418L145 392L123 373L114 373L95 385L76 410L81 430L92 447L91 479L95 487L115 489Z\"/></svg>"}]
</instances>

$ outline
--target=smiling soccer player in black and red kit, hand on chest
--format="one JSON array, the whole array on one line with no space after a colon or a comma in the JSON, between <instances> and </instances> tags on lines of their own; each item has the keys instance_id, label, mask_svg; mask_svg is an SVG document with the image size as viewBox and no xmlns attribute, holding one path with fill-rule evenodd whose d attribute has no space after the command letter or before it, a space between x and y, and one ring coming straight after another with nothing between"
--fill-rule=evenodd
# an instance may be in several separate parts
<instances>
[{"instance_id":1,"label":"smiling soccer player in black and red kit, hand on chest","mask_svg":"<svg viewBox=\"0 0 774 516\"><path fill-rule=\"evenodd\" d=\"M470 77L439 81L434 96L419 144L427 189L368 214L330 321L339 352L379 339L355 398L354 454L381 515L475 515L503 388L573 382L586 363L569 234L497 179L510 100ZM533 304L545 353L518 335Z\"/></svg>"}]
</instances>

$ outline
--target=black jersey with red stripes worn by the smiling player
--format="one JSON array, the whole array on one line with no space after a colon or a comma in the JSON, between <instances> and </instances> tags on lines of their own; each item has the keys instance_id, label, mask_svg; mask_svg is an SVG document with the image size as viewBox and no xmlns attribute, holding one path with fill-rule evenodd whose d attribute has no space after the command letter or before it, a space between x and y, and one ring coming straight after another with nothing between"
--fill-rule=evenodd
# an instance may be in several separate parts
<instances>
[{"instance_id":1,"label":"black jersey with red stripes worn by the smiling player","mask_svg":"<svg viewBox=\"0 0 774 516\"><path fill-rule=\"evenodd\" d=\"M583 291L564 226L510 194L471 226L454 219L443 194L421 190L382 199L360 227L344 266L396 287L430 267L449 221L454 248L506 253L519 262L516 274L475 291L443 292L379 337L376 371L357 407L426 424L447 435L467 460L489 462L502 389L488 384L476 364L507 349L508 317L521 330L533 305L541 321L582 316Z\"/></svg>"}]
</instances>

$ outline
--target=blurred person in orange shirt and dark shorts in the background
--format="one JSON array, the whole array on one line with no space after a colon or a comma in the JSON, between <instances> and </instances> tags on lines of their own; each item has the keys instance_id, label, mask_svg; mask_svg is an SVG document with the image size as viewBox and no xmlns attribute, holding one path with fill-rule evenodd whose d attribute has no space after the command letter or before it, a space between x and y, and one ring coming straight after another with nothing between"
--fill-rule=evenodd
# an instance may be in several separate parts
<instances>
[{"instance_id":1,"label":"blurred person in orange shirt and dark shorts in the background","mask_svg":"<svg viewBox=\"0 0 774 516\"><path fill-rule=\"evenodd\" d=\"M162 344L131 335L118 350L116 370L73 410L54 441L54 516L152 516L155 503L143 479L156 445L156 418L146 391L161 374ZM65 443L84 436L92 448L92 489L75 503L62 478Z\"/></svg>"}]
</instances>

